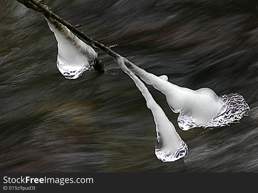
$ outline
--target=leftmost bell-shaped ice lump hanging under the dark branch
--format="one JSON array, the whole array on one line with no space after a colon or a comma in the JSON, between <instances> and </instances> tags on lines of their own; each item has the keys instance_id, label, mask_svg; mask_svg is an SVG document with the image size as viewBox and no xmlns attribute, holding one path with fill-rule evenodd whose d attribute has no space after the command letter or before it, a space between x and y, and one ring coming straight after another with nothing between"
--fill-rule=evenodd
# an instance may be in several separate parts
<instances>
[{"instance_id":1,"label":"leftmost bell-shaped ice lump hanging under the dark branch","mask_svg":"<svg viewBox=\"0 0 258 193\"><path fill-rule=\"evenodd\" d=\"M62 75L65 78L76 79L84 71L91 70L98 53L55 19L45 19L57 40L57 68Z\"/></svg>"}]
</instances>

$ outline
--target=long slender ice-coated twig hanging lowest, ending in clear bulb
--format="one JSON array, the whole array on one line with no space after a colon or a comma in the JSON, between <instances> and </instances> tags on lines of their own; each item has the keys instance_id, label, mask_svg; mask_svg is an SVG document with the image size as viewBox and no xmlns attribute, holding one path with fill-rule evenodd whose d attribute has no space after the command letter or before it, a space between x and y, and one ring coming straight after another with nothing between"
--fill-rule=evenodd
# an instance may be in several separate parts
<instances>
[{"instance_id":1,"label":"long slender ice-coated twig hanging lowest, ending in clear bulb","mask_svg":"<svg viewBox=\"0 0 258 193\"><path fill-rule=\"evenodd\" d=\"M135 85L144 96L147 107L152 111L156 124L157 142L155 154L163 162L173 162L184 157L188 147L176 132L174 125L169 121L162 108L155 102L146 86L133 74L124 63L124 58L117 60L120 68L133 79Z\"/></svg>"}]
</instances>

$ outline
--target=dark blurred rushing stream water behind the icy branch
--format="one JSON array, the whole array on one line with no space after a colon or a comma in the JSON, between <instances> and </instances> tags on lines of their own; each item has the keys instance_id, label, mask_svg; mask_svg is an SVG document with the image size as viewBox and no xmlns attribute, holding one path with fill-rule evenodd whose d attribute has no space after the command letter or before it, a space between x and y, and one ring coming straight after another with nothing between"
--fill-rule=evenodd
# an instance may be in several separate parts
<instances>
[{"instance_id":1,"label":"dark blurred rushing stream water behind the icy branch","mask_svg":"<svg viewBox=\"0 0 258 193\"><path fill-rule=\"evenodd\" d=\"M155 123L133 81L99 51L104 75L65 79L43 16L0 2L0 170L4 172L258 172L257 1L45 1L96 40L179 86L240 93L240 124L181 131L164 95L148 86L188 144L157 160Z\"/></svg>"}]
</instances>

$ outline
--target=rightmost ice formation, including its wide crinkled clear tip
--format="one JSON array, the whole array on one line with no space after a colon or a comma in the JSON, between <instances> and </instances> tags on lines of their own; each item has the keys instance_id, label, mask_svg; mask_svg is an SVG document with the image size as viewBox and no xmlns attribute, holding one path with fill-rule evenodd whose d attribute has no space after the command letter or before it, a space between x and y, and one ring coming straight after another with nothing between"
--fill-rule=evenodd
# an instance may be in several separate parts
<instances>
[{"instance_id":1,"label":"rightmost ice formation, including its wide crinkled clear tip","mask_svg":"<svg viewBox=\"0 0 258 193\"><path fill-rule=\"evenodd\" d=\"M166 95L167 103L174 113L179 113L178 125L182 130L194 127L222 127L239 122L250 110L239 94L219 97L210 88L191 90L170 83L166 75L160 77L148 73L130 61L127 66L145 83Z\"/></svg>"}]
</instances>

